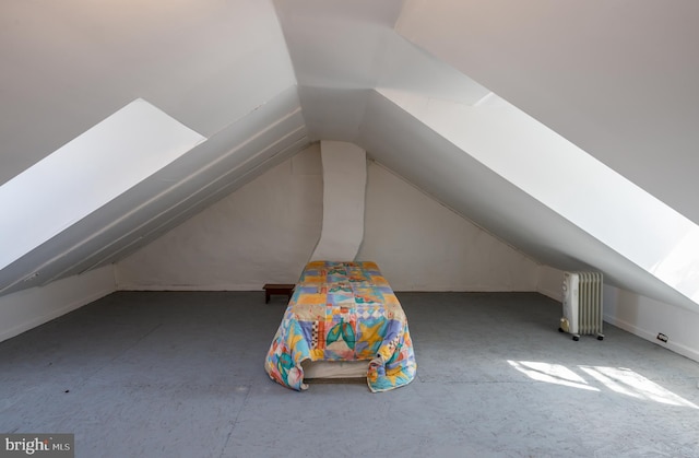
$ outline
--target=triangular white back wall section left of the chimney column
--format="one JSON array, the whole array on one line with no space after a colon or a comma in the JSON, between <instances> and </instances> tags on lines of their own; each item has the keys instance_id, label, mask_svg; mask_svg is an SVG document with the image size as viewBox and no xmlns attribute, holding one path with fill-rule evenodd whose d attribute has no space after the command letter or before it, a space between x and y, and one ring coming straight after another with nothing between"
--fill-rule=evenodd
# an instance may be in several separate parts
<instances>
[{"instance_id":1,"label":"triangular white back wall section left of the chimney column","mask_svg":"<svg viewBox=\"0 0 699 458\"><path fill-rule=\"evenodd\" d=\"M318 243L317 143L117 263L122 290L260 290L294 283Z\"/></svg>"}]
</instances>

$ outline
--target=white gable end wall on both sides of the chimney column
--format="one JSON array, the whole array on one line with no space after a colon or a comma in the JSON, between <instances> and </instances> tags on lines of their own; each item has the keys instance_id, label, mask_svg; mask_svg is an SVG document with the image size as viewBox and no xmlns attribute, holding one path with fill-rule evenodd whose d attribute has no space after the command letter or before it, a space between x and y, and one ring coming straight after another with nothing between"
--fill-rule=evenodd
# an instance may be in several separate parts
<instances>
[{"instance_id":1,"label":"white gable end wall on both sides of the chimney column","mask_svg":"<svg viewBox=\"0 0 699 458\"><path fill-rule=\"evenodd\" d=\"M322 224L318 144L117 263L122 290L254 291L295 282ZM369 162L365 237L396 291L536 291L538 266Z\"/></svg>"}]
</instances>

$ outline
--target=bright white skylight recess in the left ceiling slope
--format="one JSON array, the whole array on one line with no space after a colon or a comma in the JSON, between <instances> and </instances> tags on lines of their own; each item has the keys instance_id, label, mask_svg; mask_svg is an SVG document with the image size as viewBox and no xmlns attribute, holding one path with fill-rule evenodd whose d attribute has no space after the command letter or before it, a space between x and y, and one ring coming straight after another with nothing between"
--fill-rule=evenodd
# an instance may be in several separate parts
<instances>
[{"instance_id":1,"label":"bright white skylight recess in the left ceiling slope","mask_svg":"<svg viewBox=\"0 0 699 458\"><path fill-rule=\"evenodd\" d=\"M0 187L0 270L203 140L139 98L61 146Z\"/></svg>"}]
</instances>

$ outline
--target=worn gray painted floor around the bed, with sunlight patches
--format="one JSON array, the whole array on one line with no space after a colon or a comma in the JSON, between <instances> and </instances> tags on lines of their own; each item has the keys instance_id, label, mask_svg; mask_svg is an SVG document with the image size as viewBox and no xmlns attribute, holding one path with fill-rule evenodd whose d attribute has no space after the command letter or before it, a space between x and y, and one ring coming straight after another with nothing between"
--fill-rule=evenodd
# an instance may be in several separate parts
<instances>
[{"instance_id":1,"label":"worn gray painted floor around the bed, with sunlight patches","mask_svg":"<svg viewBox=\"0 0 699 458\"><path fill-rule=\"evenodd\" d=\"M78 457L697 457L699 364L529 293L399 293L411 385L270 380L262 292L120 292L0 343L0 432Z\"/></svg>"}]
</instances>

